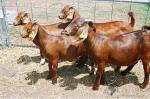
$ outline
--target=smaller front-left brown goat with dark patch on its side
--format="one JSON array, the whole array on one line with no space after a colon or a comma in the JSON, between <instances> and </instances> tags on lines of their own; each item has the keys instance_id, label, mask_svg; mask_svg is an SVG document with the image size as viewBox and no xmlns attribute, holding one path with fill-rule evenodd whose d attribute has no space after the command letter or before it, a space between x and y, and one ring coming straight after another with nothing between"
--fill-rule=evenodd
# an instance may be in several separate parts
<instances>
[{"instance_id":1,"label":"smaller front-left brown goat with dark patch on its side","mask_svg":"<svg viewBox=\"0 0 150 99\"><path fill-rule=\"evenodd\" d=\"M21 36L33 40L42 50L43 55L48 59L53 84L57 83L57 68L60 59L73 61L85 54L84 44L76 43L77 37L51 35L37 23L29 22L25 24Z\"/></svg>"}]
</instances>

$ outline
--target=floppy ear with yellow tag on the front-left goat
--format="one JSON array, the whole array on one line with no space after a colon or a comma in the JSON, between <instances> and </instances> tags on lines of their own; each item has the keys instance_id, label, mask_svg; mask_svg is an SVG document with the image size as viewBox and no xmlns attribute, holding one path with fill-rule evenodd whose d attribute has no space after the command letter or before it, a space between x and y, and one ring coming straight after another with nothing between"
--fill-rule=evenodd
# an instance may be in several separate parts
<instances>
[{"instance_id":1,"label":"floppy ear with yellow tag on the front-left goat","mask_svg":"<svg viewBox=\"0 0 150 99\"><path fill-rule=\"evenodd\" d=\"M37 35L38 28L39 28L39 26L37 25L37 23L33 23L33 24L32 24L32 32L31 32L30 35L29 35L29 39L30 39L30 40L34 40L34 38L35 38L36 35Z\"/></svg>"}]
</instances>

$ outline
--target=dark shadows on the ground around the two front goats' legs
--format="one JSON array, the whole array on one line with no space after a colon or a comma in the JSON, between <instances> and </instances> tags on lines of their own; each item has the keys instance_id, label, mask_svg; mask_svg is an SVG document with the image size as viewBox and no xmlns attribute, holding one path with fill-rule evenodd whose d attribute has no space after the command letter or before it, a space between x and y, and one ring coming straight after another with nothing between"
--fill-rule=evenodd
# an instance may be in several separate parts
<instances>
[{"instance_id":1,"label":"dark shadows on the ground around the two front goats' legs","mask_svg":"<svg viewBox=\"0 0 150 99\"><path fill-rule=\"evenodd\" d=\"M61 87L65 87L66 90L74 90L77 88L78 84L82 84L85 86L92 87L95 75L88 75L89 68L87 66L79 69L75 66L65 65L58 69L59 76L62 78L58 83L60 83ZM76 77L79 75L83 75L82 77ZM47 79L48 71L38 73L37 71L32 71L27 74L26 80L29 80L29 85L37 83L39 79ZM106 71L105 72L105 84L104 86L108 86L109 90L112 94L115 92L116 87L120 87L125 84L133 83L138 85L137 76L134 73L129 73L126 76L121 76L120 73L116 73L114 71Z\"/></svg>"}]
</instances>

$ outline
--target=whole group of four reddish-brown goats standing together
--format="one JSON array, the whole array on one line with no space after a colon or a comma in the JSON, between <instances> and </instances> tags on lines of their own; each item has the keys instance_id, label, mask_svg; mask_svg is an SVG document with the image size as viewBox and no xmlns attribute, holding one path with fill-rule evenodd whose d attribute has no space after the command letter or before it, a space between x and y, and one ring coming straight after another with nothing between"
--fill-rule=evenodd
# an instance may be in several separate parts
<instances>
[{"instance_id":1,"label":"whole group of four reddish-brown goats standing together","mask_svg":"<svg viewBox=\"0 0 150 99\"><path fill-rule=\"evenodd\" d=\"M33 41L39 49L41 64L48 60L49 77L52 84L57 83L59 60L75 61L84 65L89 58L91 75L96 79L93 90L98 90L105 77L105 67L108 63L128 66L122 71L126 75L141 60L144 69L144 81L139 84L145 88L149 82L150 72L150 27L143 26L141 30L133 31L135 17L128 13L131 22L112 21L93 23L80 17L78 11L71 5L66 5L59 14L62 22L40 25L33 22L29 14L21 11L15 18L14 26L21 26L21 37Z\"/></svg>"}]
</instances>

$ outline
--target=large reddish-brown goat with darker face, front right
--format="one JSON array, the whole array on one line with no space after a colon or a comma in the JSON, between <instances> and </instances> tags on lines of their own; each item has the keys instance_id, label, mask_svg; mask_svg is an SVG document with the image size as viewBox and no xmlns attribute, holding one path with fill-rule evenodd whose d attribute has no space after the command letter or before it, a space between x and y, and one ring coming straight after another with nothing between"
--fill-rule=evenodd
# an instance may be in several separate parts
<instances>
[{"instance_id":1,"label":"large reddish-brown goat with darker face, front right","mask_svg":"<svg viewBox=\"0 0 150 99\"><path fill-rule=\"evenodd\" d=\"M149 82L149 61L150 61L150 32L141 30L125 34L116 34L108 36L105 33L98 33L92 22L81 24L81 18L74 20L67 28L74 32L85 33L83 27L89 27L86 32L87 38L84 38L86 50L94 64L98 65L96 80L93 90L98 90L105 73L105 67L108 63L120 66L128 66L123 72L125 75L130 71L138 60L142 60L144 68L144 81L140 84L145 88ZM80 22L79 22L80 21ZM83 21L82 21L83 22ZM73 27L76 24L76 27Z\"/></svg>"}]
</instances>

